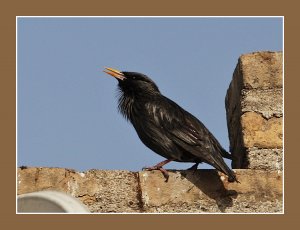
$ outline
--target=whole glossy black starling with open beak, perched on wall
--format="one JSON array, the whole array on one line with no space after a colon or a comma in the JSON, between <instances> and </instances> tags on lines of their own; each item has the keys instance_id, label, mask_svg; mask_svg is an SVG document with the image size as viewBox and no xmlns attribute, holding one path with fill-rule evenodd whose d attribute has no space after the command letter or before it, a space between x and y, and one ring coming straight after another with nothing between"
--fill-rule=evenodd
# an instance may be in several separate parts
<instances>
[{"instance_id":1,"label":"whole glossy black starling with open beak, perched on wall","mask_svg":"<svg viewBox=\"0 0 300 230\"><path fill-rule=\"evenodd\" d=\"M231 154L201 121L163 96L149 77L112 68L104 72L119 82L119 111L132 123L141 141L167 159L144 169L160 170L167 181L168 173L162 166L170 161L194 162L195 170L199 163L205 162L225 173L229 182L238 182L222 158L231 159Z\"/></svg>"}]
</instances>

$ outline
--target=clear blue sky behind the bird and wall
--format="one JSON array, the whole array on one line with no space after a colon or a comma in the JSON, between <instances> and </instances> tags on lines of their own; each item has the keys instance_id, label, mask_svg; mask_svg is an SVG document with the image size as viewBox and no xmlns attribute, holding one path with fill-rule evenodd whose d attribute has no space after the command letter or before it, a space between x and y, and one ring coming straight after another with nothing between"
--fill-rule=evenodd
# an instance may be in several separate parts
<instances>
[{"instance_id":1,"label":"clear blue sky behind the bird and wall","mask_svg":"<svg viewBox=\"0 0 300 230\"><path fill-rule=\"evenodd\" d=\"M238 58L283 50L282 30L282 18L19 17L18 166L137 171L164 160L118 113L106 66L151 77L228 150L224 101Z\"/></svg>"}]
</instances>

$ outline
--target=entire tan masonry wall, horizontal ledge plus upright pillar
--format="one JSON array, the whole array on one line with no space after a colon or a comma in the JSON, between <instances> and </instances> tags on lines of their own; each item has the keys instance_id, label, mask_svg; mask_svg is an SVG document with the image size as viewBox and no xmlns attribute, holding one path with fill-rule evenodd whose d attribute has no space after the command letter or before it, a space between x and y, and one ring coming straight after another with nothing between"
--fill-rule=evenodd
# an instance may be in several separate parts
<instances>
[{"instance_id":1,"label":"entire tan masonry wall, horizontal ledge plus upright pillar","mask_svg":"<svg viewBox=\"0 0 300 230\"><path fill-rule=\"evenodd\" d=\"M242 55L226 95L237 178L216 170L76 172L18 168L17 193L62 191L95 213L282 213L282 53Z\"/></svg>"}]
</instances>

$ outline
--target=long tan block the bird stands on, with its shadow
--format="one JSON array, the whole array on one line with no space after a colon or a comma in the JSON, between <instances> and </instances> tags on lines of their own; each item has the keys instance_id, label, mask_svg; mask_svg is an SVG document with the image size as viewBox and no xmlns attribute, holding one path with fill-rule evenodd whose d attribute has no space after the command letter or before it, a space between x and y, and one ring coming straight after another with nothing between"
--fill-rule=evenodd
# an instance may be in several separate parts
<instances>
[{"instance_id":1,"label":"long tan block the bird stands on, with its shadow","mask_svg":"<svg viewBox=\"0 0 300 230\"><path fill-rule=\"evenodd\" d=\"M281 172L236 170L239 183L228 183L215 170L173 171L168 183L160 172L140 172L146 212L282 211Z\"/></svg>"}]
</instances>

